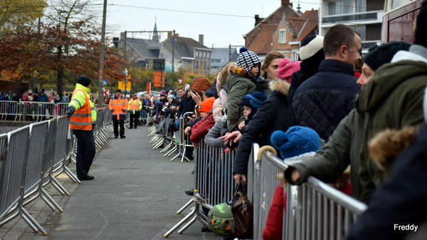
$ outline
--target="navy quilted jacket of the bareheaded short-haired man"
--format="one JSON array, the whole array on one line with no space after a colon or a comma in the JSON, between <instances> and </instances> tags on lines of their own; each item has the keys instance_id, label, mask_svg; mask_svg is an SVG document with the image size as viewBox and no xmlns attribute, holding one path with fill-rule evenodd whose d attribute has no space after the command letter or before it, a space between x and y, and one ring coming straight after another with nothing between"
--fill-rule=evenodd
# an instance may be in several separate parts
<instances>
[{"instance_id":1,"label":"navy quilted jacket of the bareheaded short-haired man","mask_svg":"<svg viewBox=\"0 0 427 240\"><path fill-rule=\"evenodd\" d=\"M325 59L319 72L305 80L292 98L292 123L310 127L328 140L339 122L354 108L359 93L352 66Z\"/></svg>"}]
</instances>

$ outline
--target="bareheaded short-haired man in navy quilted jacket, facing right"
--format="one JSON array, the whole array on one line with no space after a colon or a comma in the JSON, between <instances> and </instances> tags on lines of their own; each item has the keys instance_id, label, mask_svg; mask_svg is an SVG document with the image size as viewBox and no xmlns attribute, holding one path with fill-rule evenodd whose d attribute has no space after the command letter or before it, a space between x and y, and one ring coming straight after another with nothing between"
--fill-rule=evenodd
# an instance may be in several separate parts
<instances>
[{"instance_id":1,"label":"bareheaded short-haired man in navy quilted jacket, facing right","mask_svg":"<svg viewBox=\"0 0 427 240\"><path fill-rule=\"evenodd\" d=\"M354 108L360 90L354 66L362 57L359 33L344 24L325 34L325 60L319 72L305 80L292 99L292 124L311 127L328 140L335 127Z\"/></svg>"}]
</instances>

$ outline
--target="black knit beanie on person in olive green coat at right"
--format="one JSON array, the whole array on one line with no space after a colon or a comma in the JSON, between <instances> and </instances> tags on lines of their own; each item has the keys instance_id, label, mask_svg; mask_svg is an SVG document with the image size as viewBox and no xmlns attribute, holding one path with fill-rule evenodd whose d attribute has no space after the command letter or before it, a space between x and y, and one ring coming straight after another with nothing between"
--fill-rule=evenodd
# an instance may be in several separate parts
<instances>
[{"instance_id":1,"label":"black knit beanie on person in olive green coat at right","mask_svg":"<svg viewBox=\"0 0 427 240\"><path fill-rule=\"evenodd\" d=\"M392 41L381 44L380 46L371 46L369 52L364 56L363 61L369 68L376 71L383 64L390 63L391 58L393 58L397 51L408 51L410 46L411 44L404 41Z\"/></svg>"}]
</instances>

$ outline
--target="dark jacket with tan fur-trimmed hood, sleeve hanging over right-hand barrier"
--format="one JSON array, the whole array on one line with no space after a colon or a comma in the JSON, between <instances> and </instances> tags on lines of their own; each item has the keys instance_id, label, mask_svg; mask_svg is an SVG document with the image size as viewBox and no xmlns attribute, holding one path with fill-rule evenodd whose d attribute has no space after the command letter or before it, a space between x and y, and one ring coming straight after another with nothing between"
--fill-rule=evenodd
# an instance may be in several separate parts
<instances>
[{"instance_id":1,"label":"dark jacket with tan fur-trimmed hood, sleeve hanging over right-hand barrier","mask_svg":"<svg viewBox=\"0 0 427 240\"><path fill-rule=\"evenodd\" d=\"M248 174L248 160L251 155L252 142L260 138L260 145L271 145L270 136L275 130L286 131L291 126L289 118L288 95L289 83L283 80L272 81L270 97L260 105L246 131L238 142L234 157L233 174Z\"/></svg>"}]
</instances>

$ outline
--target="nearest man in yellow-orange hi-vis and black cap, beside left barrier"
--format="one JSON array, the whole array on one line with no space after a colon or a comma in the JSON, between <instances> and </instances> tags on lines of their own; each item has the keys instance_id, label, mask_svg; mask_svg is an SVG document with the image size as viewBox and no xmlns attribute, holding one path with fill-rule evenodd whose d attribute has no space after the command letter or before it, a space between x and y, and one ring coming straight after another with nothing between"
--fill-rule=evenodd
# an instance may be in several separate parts
<instances>
[{"instance_id":1,"label":"nearest man in yellow-orange hi-vis and black cap, beside left barrier","mask_svg":"<svg viewBox=\"0 0 427 240\"><path fill-rule=\"evenodd\" d=\"M95 157L95 139L93 123L96 121L95 104L90 100L91 81L88 76L81 75L77 79L73 98L68 104L65 115L70 120L70 129L77 138L77 155L75 157L77 177L80 181L92 180L88 175L93 157Z\"/></svg>"}]
</instances>

